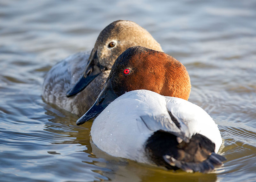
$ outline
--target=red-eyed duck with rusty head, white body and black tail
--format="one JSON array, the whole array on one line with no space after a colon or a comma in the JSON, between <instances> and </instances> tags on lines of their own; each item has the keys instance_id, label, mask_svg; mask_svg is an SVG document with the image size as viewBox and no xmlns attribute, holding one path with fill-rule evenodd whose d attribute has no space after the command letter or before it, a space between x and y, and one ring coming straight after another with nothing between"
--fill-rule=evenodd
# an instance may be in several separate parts
<instances>
[{"instance_id":1,"label":"red-eyed duck with rusty head, white body and black tail","mask_svg":"<svg viewBox=\"0 0 256 182\"><path fill-rule=\"evenodd\" d=\"M102 151L166 169L208 173L223 165L218 125L187 101L188 72L164 52L133 46L113 64L93 106L77 120L92 123Z\"/></svg>"}]
</instances>

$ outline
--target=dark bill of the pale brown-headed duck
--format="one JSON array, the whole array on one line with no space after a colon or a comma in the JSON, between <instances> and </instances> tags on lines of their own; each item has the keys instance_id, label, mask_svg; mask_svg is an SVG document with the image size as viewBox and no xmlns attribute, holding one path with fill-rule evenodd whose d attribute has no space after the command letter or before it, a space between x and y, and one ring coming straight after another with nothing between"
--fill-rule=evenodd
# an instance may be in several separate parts
<instances>
[{"instance_id":1,"label":"dark bill of the pale brown-headed duck","mask_svg":"<svg viewBox=\"0 0 256 182\"><path fill-rule=\"evenodd\" d=\"M91 57L91 56L90 56ZM97 56L97 51L95 51L93 58L89 60L84 74L78 80L76 85L68 90L66 96L70 97L81 92L94 78L96 78L100 73L104 72L107 68L99 63L99 58Z\"/></svg>"}]
</instances>

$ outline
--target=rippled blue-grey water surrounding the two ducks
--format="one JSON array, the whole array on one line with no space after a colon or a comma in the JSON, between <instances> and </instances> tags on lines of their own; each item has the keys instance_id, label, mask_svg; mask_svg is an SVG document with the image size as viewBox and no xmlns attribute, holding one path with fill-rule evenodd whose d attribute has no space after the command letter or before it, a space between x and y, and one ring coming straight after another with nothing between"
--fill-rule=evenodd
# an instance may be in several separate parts
<instances>
[{"instance_id":1,"label":"rippled blue-grey water surrounding the two ducks","mask_svg":"<svg viewBox=\"0 0 256 182\"><path fill-rule=\"evenodd\" d=\"M0 181L255 181L256 1L0 1ZM191 77L189 101L219 125L227 161L211 174L111 157L92 122L44 103L43 78L128 19Z\"/></svg>"}]
</instances>

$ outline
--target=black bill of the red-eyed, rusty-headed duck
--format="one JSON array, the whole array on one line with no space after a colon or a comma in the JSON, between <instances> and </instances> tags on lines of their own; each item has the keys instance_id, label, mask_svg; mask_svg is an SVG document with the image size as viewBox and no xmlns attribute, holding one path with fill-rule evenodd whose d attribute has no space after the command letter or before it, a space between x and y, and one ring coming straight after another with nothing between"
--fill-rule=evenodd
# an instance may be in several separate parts
<instances>
[{"instance_id":1,"label":"black bill of the red-eyed, rusty-headed duck","mask_svg":"<svg viewBox=\"0 0 256 182\"><path fill-rule=\"evenodd\" d=\"M104 110L108 104L114 101L117 97L118 96L112 88L111 79L109 79L92 107L76 121L76 125L82 125L86 121L98 116L101 111Z\"/></svg>"}]
</instances>

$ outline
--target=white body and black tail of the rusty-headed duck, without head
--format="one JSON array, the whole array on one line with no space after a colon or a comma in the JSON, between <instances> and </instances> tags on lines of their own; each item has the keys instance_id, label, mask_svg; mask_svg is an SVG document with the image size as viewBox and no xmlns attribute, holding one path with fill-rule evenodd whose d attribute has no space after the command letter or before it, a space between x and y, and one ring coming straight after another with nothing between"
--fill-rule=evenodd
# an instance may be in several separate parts
<instances>
[{"instance_id":1,"label":"white body and black tail of the rusty-headed duck, without head","mask_svg":"<svg viewBox=\"0 0 256 182\"><path fill-rule=\"evenodd\" d=\"M199 106L149 90L127 92L93 121L93 143L102 151L139 163L210 172L222 166L222 143L212 118Z\"/></svg>"}]
</instances>

